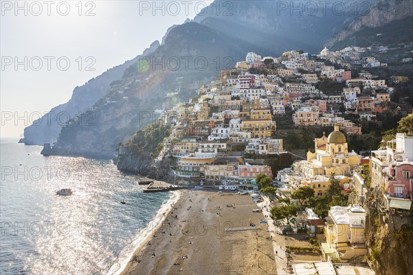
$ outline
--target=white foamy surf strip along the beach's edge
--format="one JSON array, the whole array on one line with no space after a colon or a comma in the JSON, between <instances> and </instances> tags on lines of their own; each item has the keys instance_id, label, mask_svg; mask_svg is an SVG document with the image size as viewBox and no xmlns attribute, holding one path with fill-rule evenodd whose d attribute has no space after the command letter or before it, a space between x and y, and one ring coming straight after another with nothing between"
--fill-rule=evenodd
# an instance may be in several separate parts
<instances>
[{"instance_id":1,"label":"white foamy surf strip along the beach's edge","mask_svg":"<svg viewBox=\"0 0 413 275\"><path fill-rule=\"evenodd\" d=\"M171 191L171 197L159 208L158 212L156 212L155 216L147 226L143 229L140 229L136 238L132 240L127 247L120 252L116 259L116 263L113 263L109 270L107 271L107 275L119 275L123 274L125 268L129 265L131 260L134 258L134 255L137 251L142 250L142 248L153 238L155 232L160 228L162 223L165 222L166 217L168 216L169 212L173 209L171 205L177 203L180 198L182 197L181 190L174 190Z\"/></svg>"}]
</instances>

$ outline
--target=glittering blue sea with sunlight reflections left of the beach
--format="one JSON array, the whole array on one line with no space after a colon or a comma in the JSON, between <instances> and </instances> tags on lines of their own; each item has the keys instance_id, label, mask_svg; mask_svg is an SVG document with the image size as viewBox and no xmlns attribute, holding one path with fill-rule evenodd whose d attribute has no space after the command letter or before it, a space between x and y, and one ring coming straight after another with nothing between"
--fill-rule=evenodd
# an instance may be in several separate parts
<instances>
[{"instance_id":1,"label":"glittering blue sea with sunlight reflections left of the beach","mask_svg":"<svg viewBox=\"0 0 413 275\"><path fill-rule=\"evenodd\" d=\"M0 274L119 274L178 197L111 160L43 157L1 139ZM72 188L73 195L56 195ZM125 204L121 203L125 202Z\"/></svg>"}]
</instances>

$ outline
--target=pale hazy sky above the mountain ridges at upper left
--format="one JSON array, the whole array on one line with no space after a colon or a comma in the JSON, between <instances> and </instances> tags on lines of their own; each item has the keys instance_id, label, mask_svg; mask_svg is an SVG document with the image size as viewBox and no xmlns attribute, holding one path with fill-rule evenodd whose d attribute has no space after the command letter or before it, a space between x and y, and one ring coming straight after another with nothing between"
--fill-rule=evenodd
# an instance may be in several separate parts
<instances>
[{"instance_id":1,"label":"pale hazy sky above the mountain ridges at upper left","mask_svg":"<svg viewBox=\"0 0 413 275\"><path fill-rule=\"evenodd\" d=\"M36 113L67 102L74 87L141 54L211 3L187 2L1 1L1 137L19 136Z\"/></svg>"}]
</instances>

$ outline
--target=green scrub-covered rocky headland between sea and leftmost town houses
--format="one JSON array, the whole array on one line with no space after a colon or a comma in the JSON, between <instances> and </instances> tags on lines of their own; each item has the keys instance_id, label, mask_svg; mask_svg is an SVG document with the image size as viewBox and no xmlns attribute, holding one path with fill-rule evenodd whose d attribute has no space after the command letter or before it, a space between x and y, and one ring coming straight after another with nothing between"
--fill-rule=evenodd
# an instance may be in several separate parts
<instances>
[{"instance_id":1,"label":"green scrub-covered rocky headland between sea and leftmost town houses","mask_svg":"<svg viewBox=\"0 0 413 275\"><path fill-rule=\"evenodd\" d=\"M151 125L137 131L123 144L131 148L136 155L149 155L155 157L162 150L162 140L171 133L170 126L162 122L154 122Z\"/></svg>"}]
</instances>

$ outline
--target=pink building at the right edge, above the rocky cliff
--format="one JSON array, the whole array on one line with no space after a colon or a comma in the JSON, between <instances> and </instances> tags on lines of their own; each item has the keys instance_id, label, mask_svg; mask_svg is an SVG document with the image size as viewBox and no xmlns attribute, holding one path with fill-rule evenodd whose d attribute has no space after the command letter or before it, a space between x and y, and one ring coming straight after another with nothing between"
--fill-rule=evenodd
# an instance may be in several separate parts
<instances>
[{"instance_id":1,"label":"pink building at the right edge, above the rocky cliff","mask_svg":"<svg viewBox=\"0 0 413 275\"><path fill-rule=\"evenodd\" d=\"M401 162L390 168L390 177L385 188L390 197L413 199L413 162Z\"/></svg>"}]
</instances>

